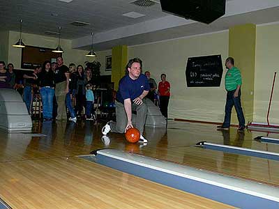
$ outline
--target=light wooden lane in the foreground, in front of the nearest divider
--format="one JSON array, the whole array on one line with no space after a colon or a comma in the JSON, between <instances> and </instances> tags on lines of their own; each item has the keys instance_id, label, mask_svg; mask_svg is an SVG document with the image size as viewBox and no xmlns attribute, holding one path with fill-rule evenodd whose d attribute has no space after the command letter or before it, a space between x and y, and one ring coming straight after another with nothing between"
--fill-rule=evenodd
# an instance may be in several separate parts
<instances>
[{"instance_id":1,"label":"light wooden lane in the foreground, in front of the nearest divider","mask_svg":"<svg viewBox=\"0 0 279 209\"><path fill-rule=\"evenodd\" d=\"M12 208L232 208L77 157L0 163Z\"/></svg>"}]
</instances>

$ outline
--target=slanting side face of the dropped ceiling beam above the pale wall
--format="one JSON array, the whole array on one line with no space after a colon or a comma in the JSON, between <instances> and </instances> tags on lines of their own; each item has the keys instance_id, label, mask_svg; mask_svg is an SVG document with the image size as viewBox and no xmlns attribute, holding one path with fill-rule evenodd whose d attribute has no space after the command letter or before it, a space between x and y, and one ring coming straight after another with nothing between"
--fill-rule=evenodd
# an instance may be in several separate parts
<instances>
[{"instance_id":1,"label":"slanting side face of the dropped ceiling beam above the pale wall","mask_svg":"<svg viewBox=\"0 0 279 209\"><path fill-rule=\"evenodd\" d=\"M141 45L146 42L158 42L162 40L170 40L174 38L181 38L186 36L196 36L204 33L214 33L218 31L224 31L229 27L239 24L264 24L269 22L279 21L279 7L270 8L265 10L258 10L252 13L244 13L241 15L234 15L230 17L223 17L213 22L212 24L202 24L193 22L181 26L169 27L167 29L151 31L148 33L140 33L133 36L123 36L122 38L99 38L98 42L95 41L94 49L101 51L104 49L111 49L116 45ZM113 33L110 33L113 34ZM103 35L103 34L100 34ZM82 42L81 42L82 40ZM73 48L77 49L90 49L90 43L88 37L80 38L79 40L73 40Z\"/></svg>"}]
</instances>

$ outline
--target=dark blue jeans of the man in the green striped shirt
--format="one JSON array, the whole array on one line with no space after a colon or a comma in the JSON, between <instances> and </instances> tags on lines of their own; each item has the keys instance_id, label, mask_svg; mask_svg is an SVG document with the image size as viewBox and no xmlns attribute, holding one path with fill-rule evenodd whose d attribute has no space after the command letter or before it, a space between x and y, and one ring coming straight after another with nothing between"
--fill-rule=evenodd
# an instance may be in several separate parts
<instances>
[{"instance_id":1,"label":"dark blue jeans of the man in the green striped shirt","mask_svg":"<svg viewBox=\"0 0 279 209\"><path fill-rule=\"evenodd\" d=\"M225 119L223 127L229 127L231 123L232 107L236 109L237 118L239 119L239 127L245 127L245 118L241 107L241 91L239 96L234 98L234 91L227 91L227 101L225 106Z\"/></svg>"}]
</instances>

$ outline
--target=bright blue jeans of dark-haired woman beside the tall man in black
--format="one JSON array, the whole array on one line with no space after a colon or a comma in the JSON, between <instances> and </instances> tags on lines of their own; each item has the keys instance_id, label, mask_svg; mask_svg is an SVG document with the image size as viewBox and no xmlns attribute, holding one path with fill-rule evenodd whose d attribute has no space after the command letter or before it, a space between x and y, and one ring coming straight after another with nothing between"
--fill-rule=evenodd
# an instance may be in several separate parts
<instances>
[{"instance_id":1,"label":"bright blue jeans of dark-haired woman beside the tall man in black","mask_svg":"<svg viewBox=\"0 0 279 209\"><path fill-rule=\"evenodd\" d=\"M40 88L40 97L43 102L43 118L52 118L54 88Z\"/></svg>"}]
</instances>

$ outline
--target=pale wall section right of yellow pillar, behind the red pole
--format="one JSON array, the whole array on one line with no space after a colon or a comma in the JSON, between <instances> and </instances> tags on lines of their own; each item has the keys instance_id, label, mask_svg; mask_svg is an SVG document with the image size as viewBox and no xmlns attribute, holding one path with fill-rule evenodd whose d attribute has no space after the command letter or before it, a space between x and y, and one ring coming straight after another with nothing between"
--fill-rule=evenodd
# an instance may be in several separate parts
<instances>
[{"instance_id":1,"label":"pale wall section right of yellow pillar, behind the red pole","mask_svg":"<svg viewBox=\"0 0 279 209\"><path fill-rule=\"evenodd\" d=\"M254 121L266 123L274 72L279 72L279 24L257 26ZM279 124L279 75L271 105L270 123Z\"/></svg>"}]
</instances>

